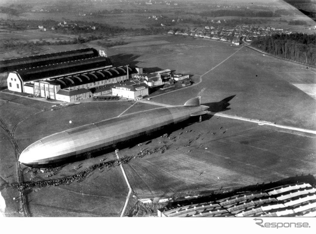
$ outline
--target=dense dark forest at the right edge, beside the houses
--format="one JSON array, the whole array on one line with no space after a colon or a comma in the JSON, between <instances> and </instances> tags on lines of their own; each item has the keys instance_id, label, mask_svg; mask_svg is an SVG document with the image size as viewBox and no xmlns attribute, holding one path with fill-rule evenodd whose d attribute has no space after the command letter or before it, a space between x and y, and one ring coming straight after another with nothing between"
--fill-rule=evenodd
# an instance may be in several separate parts
<instances>
[{"instance_id":1,"label":"dense dark forest at the right edge, beside the houses","mask_svg":"<svg viewBox=\"0 0 316 234\"><path fill-rule=\"evenodd\" d=\"M274 34L258 37L251 45L280 58L316 66L315 34Z\"/></svg>"}]
</instances>

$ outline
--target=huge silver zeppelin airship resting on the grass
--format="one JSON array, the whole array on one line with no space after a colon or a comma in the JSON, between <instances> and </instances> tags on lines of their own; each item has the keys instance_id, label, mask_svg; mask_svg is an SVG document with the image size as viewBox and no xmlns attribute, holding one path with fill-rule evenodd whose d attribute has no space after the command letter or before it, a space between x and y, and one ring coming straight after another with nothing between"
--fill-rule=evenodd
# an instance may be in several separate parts
<instances>
[{"instance_id":1,"label":"huge silver zeppelin airship resting on the grass","mask_svg":"<svg viewBox=\"0 0 316 234\"><path fill-rule=\"evenodd\" d=\"M183 106L157 108L68 129L28 146L19 162L30 167L52 167L88 158L97 152L117 149L139 137L146 139L190 117L201 117L208 113L208 108L201 105L201 97L196 97Z\"/></svg>"}]
</instances>

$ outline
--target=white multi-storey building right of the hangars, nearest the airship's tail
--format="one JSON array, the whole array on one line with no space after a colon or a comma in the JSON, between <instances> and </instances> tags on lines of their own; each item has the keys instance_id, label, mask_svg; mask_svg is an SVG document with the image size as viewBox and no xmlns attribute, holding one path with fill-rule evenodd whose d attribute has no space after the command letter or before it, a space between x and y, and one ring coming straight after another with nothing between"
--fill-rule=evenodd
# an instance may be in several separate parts
<instances>
[{"instance_id":1,"label":"white multi-storey building right of the hangars, nearest the airship's tail","mask_svg":"<svg viewBox=\"0 0 316 234\"><path fill-rule=\"evenodd\" d=\"M148 96L149 90L145 83L134 85L126 85L126 83L121 83L120 85L112 87L112 95L139 100L145 96Z\"/></svg>"}]
</instances>

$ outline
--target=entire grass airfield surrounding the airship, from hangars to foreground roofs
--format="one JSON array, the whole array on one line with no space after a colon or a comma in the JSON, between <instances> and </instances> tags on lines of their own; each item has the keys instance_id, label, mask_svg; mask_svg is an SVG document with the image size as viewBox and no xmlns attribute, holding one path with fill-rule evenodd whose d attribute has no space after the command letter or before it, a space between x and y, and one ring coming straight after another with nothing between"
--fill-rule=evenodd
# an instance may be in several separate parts
<instances>
[{"instance_id":1,"label":"entire grass airfield surrounding the airship, from hangars to foreground roofs","mask_svg":"<svg viewBox=\"0 0 316 234\"><path fill-rule=\"evenodd\" d=\"M20 150L55 132L116 117L127 108L124 115L159 107L155 103L182 105L198 95L214 112L316 130L316 100L292 85L315 84L315 70L224 42L173 36L135 37L130 41L127 45L135 46L112 47L109 56L140 67L191 74L196 83L201 82L133 106L130 102L84 102L54 111L50 111L54 103L1 92L0 116ZM220 102L228 97L232 97L230 105ZM2 128L0 136L0 181L13 183L17 180L15 148ZM170 145L163 154L135 157L123 165L137 197L225 191L296 174L316 174L316 137L312 134L207 115L202 122L184 126L169 137L120 149L119 156L136 156L146 148ZM103 159L116 156L109 153L67 164L49 179L73 175ZM79 169L75 171L74 167ZM49 173L34 176L27 167L21 168L24 181L48 179ZM7 216L21 216L12 200L17 193L12 189L1 191ZM80 183L33 188L27 200L34 217L109 217L120 215L127 193L122 172L116 166L95 170Z\"/></svg>"}]
</instances>

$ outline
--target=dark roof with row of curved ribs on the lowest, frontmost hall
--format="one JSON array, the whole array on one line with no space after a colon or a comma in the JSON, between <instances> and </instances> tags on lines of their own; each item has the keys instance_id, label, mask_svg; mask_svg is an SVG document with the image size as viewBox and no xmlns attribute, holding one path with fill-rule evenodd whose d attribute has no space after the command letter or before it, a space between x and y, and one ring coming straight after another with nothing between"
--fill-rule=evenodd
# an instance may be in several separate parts
<instances>
[{"instance_id":1,"label":"dark roof with row of curved ribs on the lowest, frontmost hall","mask_svg":"<svg viewBox=\"0 0 316 234\"><path fill-rule=\"evenodd\" d=\"M129 74L137 73L135 68L128 67ZM45 80L50 84L60 85L61 89L97 82L105 79L116 78L127 75L126 66L100 69L90 73L81 73L69 77Z\"/></svg>"}]
</instances>

